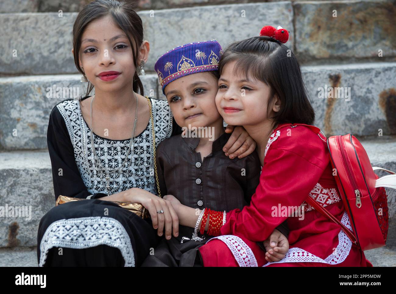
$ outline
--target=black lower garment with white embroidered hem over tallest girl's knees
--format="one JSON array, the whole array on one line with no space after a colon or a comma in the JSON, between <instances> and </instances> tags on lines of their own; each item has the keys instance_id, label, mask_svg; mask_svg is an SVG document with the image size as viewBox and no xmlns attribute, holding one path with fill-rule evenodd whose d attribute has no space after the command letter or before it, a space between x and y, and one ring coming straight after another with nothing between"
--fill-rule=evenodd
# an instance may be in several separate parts
<instances>
[{"instance_id":1,"label":"black lower garment with white embroidered hem over tallest girl's knees","mask_svg":"<svg viewBox=\"0 0 396 294\"><path fill-rule=\"evenodd\" d=\"M82 225L82 220L89 225ZM59 225L65 221L67 225ZM133 265L140 266L161 239L150 219L143 220L115 203L100 199L68 202L42 217L37 260L40 265L44 254L42 266L124 266L122 247L124 254L128 251L133 257ZM78 248L81 242L84 248Z\"/></svg>"}]
</instances>

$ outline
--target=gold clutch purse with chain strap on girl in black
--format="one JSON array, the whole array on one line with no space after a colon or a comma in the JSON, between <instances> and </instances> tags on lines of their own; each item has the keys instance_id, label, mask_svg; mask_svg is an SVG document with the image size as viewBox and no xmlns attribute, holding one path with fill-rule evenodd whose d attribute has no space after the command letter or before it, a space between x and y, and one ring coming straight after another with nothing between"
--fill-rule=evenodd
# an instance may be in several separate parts
<instances>
[{"instance_id":1,"label":"gold clutch purse with chain strap on girl in black","mask_svg":"<svg viewBox=\"0 0 396 294\"><path fill-rule=\"evenodd\" d=\"M151 109L151 102L148 96L145 96L147 101L148 101L148 107L150 108L150 120L151 120L151 126L152 126L152 136L153 136L153 158L154 158L154 172L155 172L155 177L156 177L156 184L157 184L157 190L158 190L158 197L161 197L161 192L160 192L160 187L158 184L158 175L157 175L157 165L155 161L155 132L154 132L154 119L152 116L152 109ZM59 195L58 199L56 200L56 206L59 204L67 203L70 201L78 201L78 200L86 200L84 198L75 198L75 197L69 197L69 196L64 196L64 195ZM109 201L109 200L107 200ZM109 201L113 202L117 205L119 205L122 208L128 209L130 212L137 214L137 216L145 219L145 218L150 218L150 214L148 213L148 210L141 204L141 203L131 203L131 202L121 202L121 201Z\"/></svg>"}]
</instances>

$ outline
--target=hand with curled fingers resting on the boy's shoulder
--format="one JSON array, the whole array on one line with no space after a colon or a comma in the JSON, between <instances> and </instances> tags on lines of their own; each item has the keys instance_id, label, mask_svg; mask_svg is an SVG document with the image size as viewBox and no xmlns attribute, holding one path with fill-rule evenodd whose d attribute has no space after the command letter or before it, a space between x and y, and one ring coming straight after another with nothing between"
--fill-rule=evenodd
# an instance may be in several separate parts
<instances>
[{"instance_id":1,"label":"hand with curled fingers resting on the boy's shoulder","mask_svg":"<svg viewBox=\"0 0 396 294\"><path fill-rule=\"evenodd\" d=\"M256 141L249 136L249 133L243 126L228 125L225 132L232 132L230 138L223 147L226 156L232 159L239 155L239 158L243 158L255 151Z\"/></svg>"}]
</instances>

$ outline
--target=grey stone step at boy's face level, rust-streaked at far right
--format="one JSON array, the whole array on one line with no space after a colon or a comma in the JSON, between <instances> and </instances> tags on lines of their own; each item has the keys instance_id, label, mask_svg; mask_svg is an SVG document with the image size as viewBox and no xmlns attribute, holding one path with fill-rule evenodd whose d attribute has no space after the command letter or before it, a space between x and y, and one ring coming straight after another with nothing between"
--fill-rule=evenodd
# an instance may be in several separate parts
<instances>
[{"instance_id":1,"label":"grey stone step at boy's face level, rust-streaked at far right","mask_svg":"<svg viewBox=\"0 0 396 294\"><path fill-rule=\"evenodd\" d=\"M396 63L317 65L303 72L316 125L327 136L396 134ZM47 148L49 113L57 102L85 93L79 79L79 74L0 78L0 148ZM165 99L155 74L141 79L145 95Z\"/></svg>"}]
</instances>

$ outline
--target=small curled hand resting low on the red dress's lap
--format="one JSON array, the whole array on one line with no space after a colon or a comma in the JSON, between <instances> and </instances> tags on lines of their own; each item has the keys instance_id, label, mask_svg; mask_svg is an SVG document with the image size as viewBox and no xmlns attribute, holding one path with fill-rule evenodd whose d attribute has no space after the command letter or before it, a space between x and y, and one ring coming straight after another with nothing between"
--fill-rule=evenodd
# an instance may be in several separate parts
<instances>
[{"instance_id":1,"label":"small curled hand resting low on the red dress's lap","mask_svg":"<svg viewBox=\"0 0 396 294\"><path fill-rule=\"evenodd\" d=\"M289 250L289 241L277 229L271 233L267 240L263 242L265 250L265 260L267 262L278 262L282 260Z\"/></svg>"}]
</instances>

